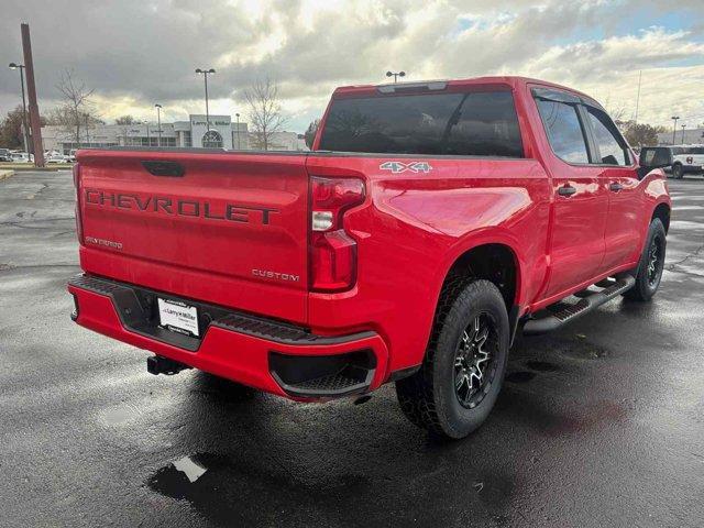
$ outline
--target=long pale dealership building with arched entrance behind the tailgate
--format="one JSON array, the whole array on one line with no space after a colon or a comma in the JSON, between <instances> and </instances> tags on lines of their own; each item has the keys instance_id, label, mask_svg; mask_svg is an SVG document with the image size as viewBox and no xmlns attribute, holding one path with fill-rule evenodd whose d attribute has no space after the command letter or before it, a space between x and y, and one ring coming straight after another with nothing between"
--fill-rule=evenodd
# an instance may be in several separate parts
<instances>
[{"instance_id":1,"label":"long pale dealership building with arched entrance behind the tailgate","mask_svg":"<svg viewBox=\"0 0 704 528\"><path fill-rule=\"evenodd\" d=\"M233 123L230 116L210 116L210 130L206 116L193 114L188 121L162 123L161 146L249 150L248 123ZM80 129L80 141L63 125L42 127L44 148L68 154L75 148L106 146L160 145L156 123L98 124Z\"/></svg>"}]
</instances>

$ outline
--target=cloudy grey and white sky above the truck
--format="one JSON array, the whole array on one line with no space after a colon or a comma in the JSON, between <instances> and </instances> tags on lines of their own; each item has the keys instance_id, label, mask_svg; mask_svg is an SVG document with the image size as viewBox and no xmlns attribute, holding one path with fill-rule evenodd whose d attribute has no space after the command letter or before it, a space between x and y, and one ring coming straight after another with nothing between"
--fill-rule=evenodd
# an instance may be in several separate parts
<instances>
[{"instance_id":1,"label":"cloudy grey and white sky above the truck","mask_svg":"<svg viewBox=\"0 0 704 528\"><path fill-rule=\"evenodd\" d=\"M305 130L336 86L491 74L579 88L639 121L704 123L703 0L3 0L0 62L21 61L32 32L40 107L56 103L67 68L95 88L103 119L246 114L242 91L279 85L288 129ZM0 112L19 102L16 72L0 69Z\"/></svg>"}]
</instances>

